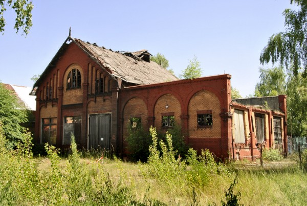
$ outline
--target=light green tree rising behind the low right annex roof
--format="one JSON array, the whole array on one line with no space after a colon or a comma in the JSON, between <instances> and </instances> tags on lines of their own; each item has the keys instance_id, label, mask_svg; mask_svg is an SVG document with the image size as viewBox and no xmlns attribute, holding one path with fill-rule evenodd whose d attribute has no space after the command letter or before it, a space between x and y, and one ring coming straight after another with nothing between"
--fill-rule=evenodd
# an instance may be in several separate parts
<instances>
[{"instance_id":1,"label":"light green tree rising behind the low right annex roof","mask_svg":"<svg viewBox=\"0 0 307 206\"><path fill-rule=\"evenodd\" d=\"M286 74L282 67L259 68L260 82L255 86L255 96L276 96L286 93Z\"/></svg>"}]
</instances>

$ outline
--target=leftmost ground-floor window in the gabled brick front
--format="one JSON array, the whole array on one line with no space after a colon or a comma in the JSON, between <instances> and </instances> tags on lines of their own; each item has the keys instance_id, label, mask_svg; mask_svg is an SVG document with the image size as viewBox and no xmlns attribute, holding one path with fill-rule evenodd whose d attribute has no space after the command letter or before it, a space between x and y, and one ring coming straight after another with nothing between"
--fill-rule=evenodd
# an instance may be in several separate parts
<instances>
[{"instance_id":1,"label":"leftmost ground-floor window in the gabled brick front","mask_svg":"<svg viewBox=\"0 0 307 206\"><path fill-rule=\"evenodd\" d=\"M41 131L41 143L56 144L56 121L57 118L43 118Z\"/></svg>"}]
</instances>

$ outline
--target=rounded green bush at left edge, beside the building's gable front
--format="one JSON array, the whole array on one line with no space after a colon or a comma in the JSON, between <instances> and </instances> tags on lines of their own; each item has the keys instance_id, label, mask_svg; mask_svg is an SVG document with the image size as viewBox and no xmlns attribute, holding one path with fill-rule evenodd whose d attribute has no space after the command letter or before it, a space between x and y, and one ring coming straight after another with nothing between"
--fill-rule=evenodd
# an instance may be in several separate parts
<instances>
[{"instance_id":1,"label":"rounded green bush at left edge, beside the building's gable front","mask_svg":"<svg viewBox=\"0 0 307 206\"><path fill-rule=\"evenodd\" d=\"M3 135L8 139L7 148L10 149L23 139L23 131L25 131L20 124L27 121L27 110L20 107L17 97L0 83L0 121Z\"/></svg>"}]
</instances>

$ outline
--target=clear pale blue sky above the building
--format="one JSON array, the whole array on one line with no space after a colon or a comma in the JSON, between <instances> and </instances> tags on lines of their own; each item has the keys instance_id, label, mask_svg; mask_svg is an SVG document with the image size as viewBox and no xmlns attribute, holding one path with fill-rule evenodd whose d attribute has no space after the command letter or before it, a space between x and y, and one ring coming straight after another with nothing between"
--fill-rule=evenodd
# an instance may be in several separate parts
<instances>
[{"instance_id":1,"label":"clear pale blue sky above the building","mask_svg":"<svg viewBox=\"0 0 307 206\"><path fill-rule=\"evenodd\" d=\"M33 85L72 36L107 49L162 53L178 75L194 56L203 76L231 74L231 85L245 97L259 80L259 55L269 37L284 31L290 0L233 1L72 1L33 0L33 27L15 33L14 11L5 12L0 35L0 80ZM268 67L265 65L265 67Z\"/></svg>"}]
</instances>

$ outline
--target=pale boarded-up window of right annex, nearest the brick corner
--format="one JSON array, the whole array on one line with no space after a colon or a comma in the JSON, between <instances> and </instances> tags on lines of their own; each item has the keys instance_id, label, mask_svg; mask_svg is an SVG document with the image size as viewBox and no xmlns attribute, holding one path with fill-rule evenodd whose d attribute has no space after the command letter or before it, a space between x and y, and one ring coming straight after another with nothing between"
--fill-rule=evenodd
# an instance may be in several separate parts
<instances>
[{"instance_id":1,"label":"pale boarded-up window of right annex, nearest the brick corner","mask_svg":"<svg viewBox=\"0 0 307 206\"><path fill-rule=\"evenodd\" d=\"M244 130L244 112L241 110L234 110L233 113L233 127L234 127L234 142L245 143Z\"/></svg>"}]
</instances>

